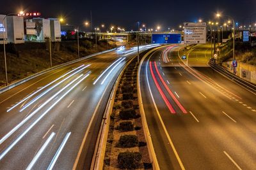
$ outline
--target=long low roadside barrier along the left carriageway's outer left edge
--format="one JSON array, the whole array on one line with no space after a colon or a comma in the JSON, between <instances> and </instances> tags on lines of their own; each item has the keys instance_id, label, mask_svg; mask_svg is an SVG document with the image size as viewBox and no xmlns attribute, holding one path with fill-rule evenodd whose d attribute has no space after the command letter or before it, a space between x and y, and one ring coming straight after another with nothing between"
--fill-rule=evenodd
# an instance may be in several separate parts
<instances>
[{"instance_id":1,"label":"long low roadside barrier along the left carriageway's outer left edge","mask_svg":"<svg viewBox=\"0 0 256 170\"><path fill-rule=\"evenodd\" d=\"M106 50L106 51L103 51L103 52L99 52L99 53L93 53L93 54L91 54L91 55L87 55L86 57L82 57L81 59L72 60L72 61L69 61L69 62L60 64L60 65L58 65L58 66L51 67L51 68L49 68L49 69L45 69L44 71L40 71L40 72L35 73L35 74L31 75L31 76L28 76L28 77L26 77L26 78L23 78L22 80L18 80L18 81L16 81L15 83L12 83L12 84L10 84L10 85L8 85L8 86L6 86L6 87L1 88L1 89L0 89L0 94L2 94L3 92L8 91L8 90L10 90L10 89L13 89L14 87L17 87L18 85L21 85L22 83L25 83L26 81L29 81L29 80L32 80L33 78L36 78L36 77L38 77L38 76L41 76L42 74L49 73L50 71L53 71L53 70L55 70L55 69L59 69L59 68L64 67L64 66L68 66L69 64L74 64L74 63L79 62L79 61L81 61L81 60L89 59L89 58L91 58L91 57L94 57L95 55L100 55L100 54L102 54L102 53L112 52L112 51L114 51L114 50L116 50L116 48L113 48L113 49L111 49L111 50Z\"/></svg>"}]
</instances>

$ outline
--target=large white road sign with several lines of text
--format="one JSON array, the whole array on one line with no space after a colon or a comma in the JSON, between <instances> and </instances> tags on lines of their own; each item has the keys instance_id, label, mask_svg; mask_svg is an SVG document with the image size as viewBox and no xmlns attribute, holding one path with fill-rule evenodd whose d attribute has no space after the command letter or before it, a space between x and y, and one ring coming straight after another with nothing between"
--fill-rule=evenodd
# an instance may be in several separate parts
<instances>
[{"instance_id":1,"label":"large white road sign with several lines of text","mask_svg":"<svg viewBox=\"0 0 256 170\"><path fill-rule=\"evenodd\" d=\"M185 44L205 44L206 43L206 23L184 23L184 43Z\"/></svg>"}]
</instances>

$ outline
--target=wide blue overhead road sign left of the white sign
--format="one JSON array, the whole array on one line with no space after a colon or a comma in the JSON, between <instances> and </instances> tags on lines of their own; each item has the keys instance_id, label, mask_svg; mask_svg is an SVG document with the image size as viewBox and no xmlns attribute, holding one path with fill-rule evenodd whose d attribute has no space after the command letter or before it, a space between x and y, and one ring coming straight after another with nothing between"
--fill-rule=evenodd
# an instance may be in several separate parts
<instances>
[{"instance_id":1,"label":"wide blue overhead road sign left of the white sign","mask_svg":"<svg viewBox=\"0 0 256 170\"><path fill-rule=\"evenodd\" d=\"M181 34L152 34L153 44L181 43Z\"/></svg>"}]
</instances>

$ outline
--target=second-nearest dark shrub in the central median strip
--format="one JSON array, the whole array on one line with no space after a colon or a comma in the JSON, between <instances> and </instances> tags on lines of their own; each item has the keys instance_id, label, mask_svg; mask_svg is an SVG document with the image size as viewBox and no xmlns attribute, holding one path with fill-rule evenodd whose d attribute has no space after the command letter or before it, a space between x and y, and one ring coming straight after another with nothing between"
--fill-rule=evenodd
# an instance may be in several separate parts
<instances>
[{"instance_id":1,"label":"second-nearest dark shrub in the central median strip","mask_svg":"<svg viewBox=\"0 0 256 170\"><path fill-rule=\"evenodd\" d=\"M136 135L123 135L120 137L117 146L120 148L139 146L138 137Z\"/></svg>"}]
</instances>

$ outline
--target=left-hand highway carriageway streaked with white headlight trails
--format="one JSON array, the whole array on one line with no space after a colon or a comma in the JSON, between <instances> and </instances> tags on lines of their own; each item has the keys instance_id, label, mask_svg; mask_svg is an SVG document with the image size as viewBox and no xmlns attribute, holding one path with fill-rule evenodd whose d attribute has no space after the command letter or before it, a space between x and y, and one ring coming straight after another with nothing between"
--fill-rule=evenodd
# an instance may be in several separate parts
<instances>
[{"instance_id":1,"label":"left-hand highway carriageway streaked with white headlight trails","mask_svg":"<svg viewBox=\"0 0 256 170\"><path fill-rule=\"evenodd\" d=\"M83 154L89 169L115 80L136 52L122 46L0 94L0 169L72 169Z\"/></svg>"}]
</instances>

